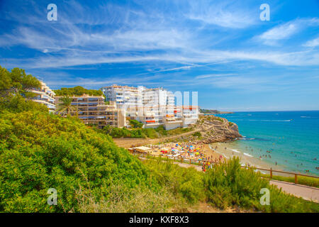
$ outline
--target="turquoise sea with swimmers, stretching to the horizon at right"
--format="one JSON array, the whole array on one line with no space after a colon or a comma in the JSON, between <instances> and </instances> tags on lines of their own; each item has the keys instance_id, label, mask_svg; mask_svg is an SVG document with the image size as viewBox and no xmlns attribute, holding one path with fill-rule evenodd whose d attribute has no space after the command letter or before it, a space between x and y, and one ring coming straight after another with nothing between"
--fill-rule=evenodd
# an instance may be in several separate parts
<instances>
[{"instance_id":1,"label":"turquoise sea with swimmers, stretching to the horizon at right","mask_svg":"<svg viewBox=\"0 0 319 227\"><path fill-rule=\"evenodd\" d=\"M216 114L237 123L244 138L237 150L292 172L319 175L319 111L263 111ZM267 150L270 153L267 153ZM269 157L268 155L271 155Z\"/></svg>"}]
</instances>

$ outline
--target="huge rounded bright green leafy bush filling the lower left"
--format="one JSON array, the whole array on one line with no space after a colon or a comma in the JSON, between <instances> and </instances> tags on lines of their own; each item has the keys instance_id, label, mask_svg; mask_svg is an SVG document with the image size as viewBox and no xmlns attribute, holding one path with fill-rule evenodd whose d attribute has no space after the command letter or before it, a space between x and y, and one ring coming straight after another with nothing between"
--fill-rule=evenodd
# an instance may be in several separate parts
<instances>
[{"instance_id":1,"label":"huge rounded bright green leafy bush filling the lower left","mask_svg":"<svg viewBox=\"0 0 319 227\"><path fill-rule=\"evenodd\" d=\"M76 118L0 113L0 211L79 211L74 196L79 185L89 182L99 199L111 183L155 186L148 176L147 168L111 137ZM47 205L49 188L57 189L57 206Z\"/></svg>"}]
</instances>

